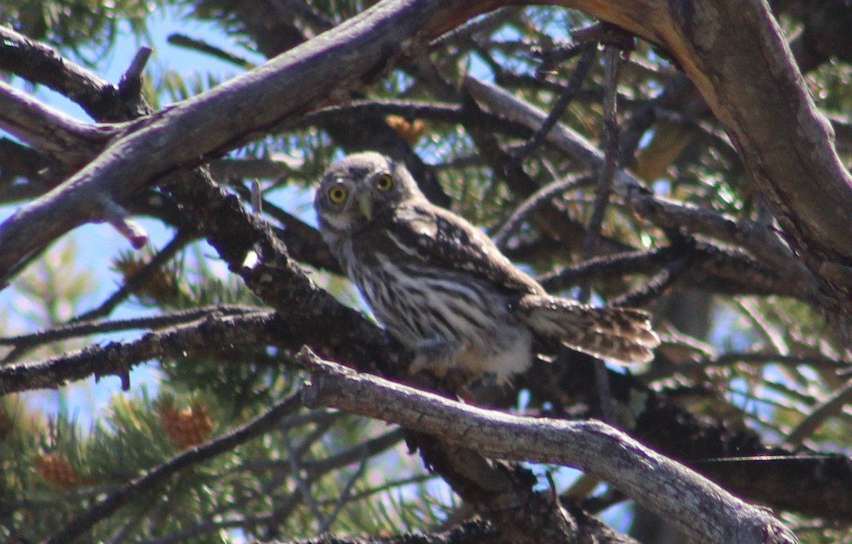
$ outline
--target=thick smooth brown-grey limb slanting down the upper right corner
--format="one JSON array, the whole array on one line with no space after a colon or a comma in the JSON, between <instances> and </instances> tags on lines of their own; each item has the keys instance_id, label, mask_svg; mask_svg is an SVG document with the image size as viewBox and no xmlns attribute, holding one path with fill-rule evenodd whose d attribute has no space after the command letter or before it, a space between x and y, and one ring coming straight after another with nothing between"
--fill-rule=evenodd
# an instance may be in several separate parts
<instances>
[{"instance_id":1,"label":"thick smooth brown-grey limb slanting down the upper right corner","mask_svg":"<svg viewBox=\"0 0 852 544\"><path fill-rule=\"evenodd\" d=\"M852 231L852 177L767 3L667 5L648 23L728 130L825 304L848 316L852 249L838 233Z\"/></svg>"}]
</instances>

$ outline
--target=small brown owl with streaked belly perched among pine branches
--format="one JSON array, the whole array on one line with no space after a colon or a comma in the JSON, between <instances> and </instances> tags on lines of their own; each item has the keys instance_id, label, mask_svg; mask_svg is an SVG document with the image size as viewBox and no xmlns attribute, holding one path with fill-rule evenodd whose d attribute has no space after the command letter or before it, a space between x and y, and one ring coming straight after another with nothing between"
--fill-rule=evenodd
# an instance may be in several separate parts
<instances>
[{"instance_id":1,"label":"small brown owl with streaked belly perched among pine branches","mask_svg":"<svg viewBox=\"0 0 852 544\"><path fill-rule=\"evenodd\" d=\"M614 362L659 344L648 313L552 297L486 234L432 205L405 165L358 153L325 171L320 232L377 318L416 353L412 370L503 381L533 361L537 339Z\"/></svg>"}]
</instances>

